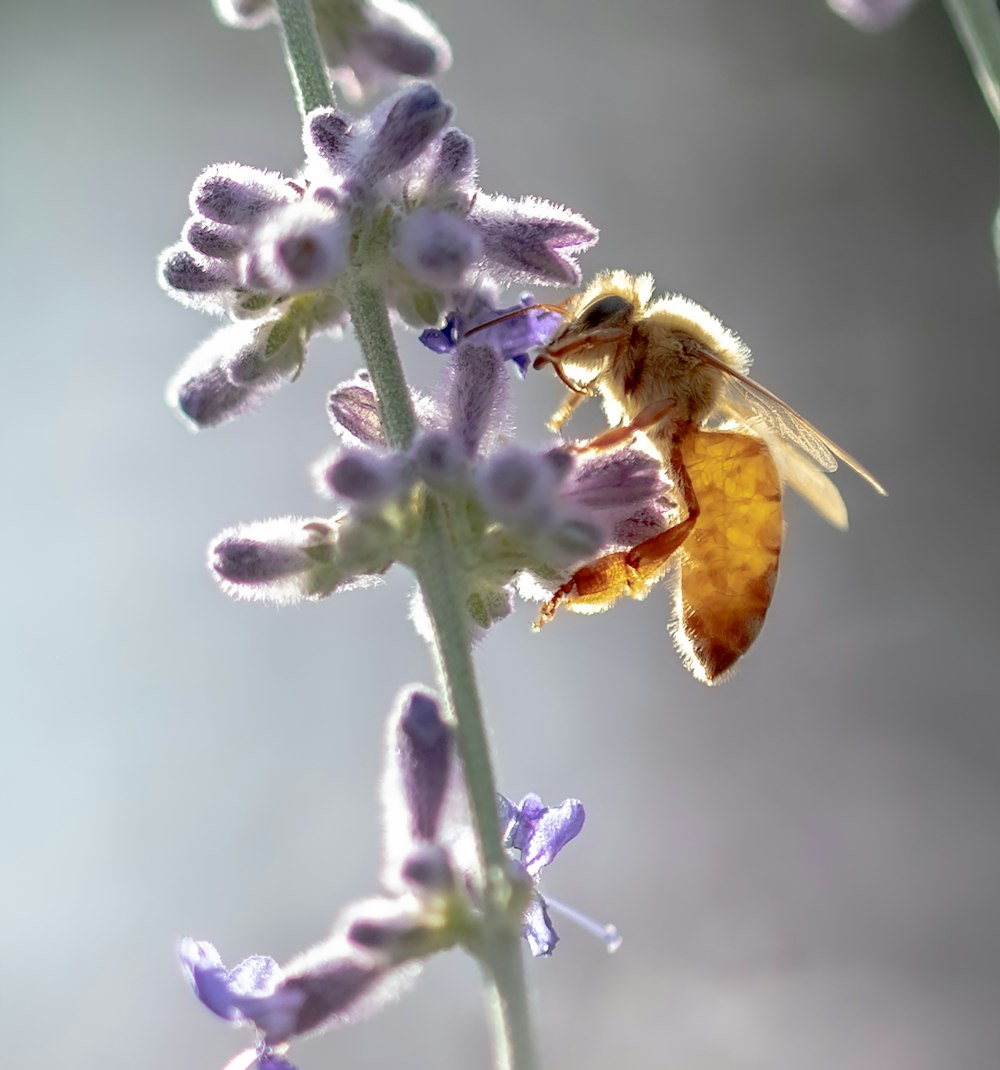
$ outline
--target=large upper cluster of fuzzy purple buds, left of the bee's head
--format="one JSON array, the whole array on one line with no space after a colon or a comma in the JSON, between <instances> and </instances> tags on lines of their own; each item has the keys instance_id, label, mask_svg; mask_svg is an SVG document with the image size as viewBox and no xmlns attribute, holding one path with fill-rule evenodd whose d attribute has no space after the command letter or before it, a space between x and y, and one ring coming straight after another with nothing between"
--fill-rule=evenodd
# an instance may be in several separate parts
<instances>
[{"instance_id":1,"label":"large upper cluster of fuzzy purple buds, left of the bee's head","mask_svg":"<svg viewBox=\"0 0 1000 1070\"><path fill-rule=\"evenodd\" d=\"M452 110L429 83L357 120L318 108L294 178L242 164L199 175L160 281L178 301L235 322L169 387L191 426L229 419L297 373L309 338L345 324L355 279L425 327L491 280L579 281L576 258L597 231L547 201L480 190L473 142L450 125Z\"/></svg>"}]
</instances>

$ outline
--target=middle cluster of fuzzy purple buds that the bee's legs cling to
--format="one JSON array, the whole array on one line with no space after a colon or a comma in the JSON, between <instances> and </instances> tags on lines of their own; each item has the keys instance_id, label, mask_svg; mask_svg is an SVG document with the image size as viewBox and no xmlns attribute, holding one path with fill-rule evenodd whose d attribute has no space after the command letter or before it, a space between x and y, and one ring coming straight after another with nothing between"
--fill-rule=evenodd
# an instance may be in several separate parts
<instances>
[{"instance_id":1,"label":"middle cluster of fuzzy purple buds that the bee's legs cling to","mask_svg":"<svg viewBox=\"0 0 1000 1070\"><path fill-rule=\"evenodd\" d=\"M316 476L342 511L224 532L210 551L224 590L270 601L316 599L371 583L394 562L416 568L424 503L433 491L456 523L456 571L475 633L510 612L514 590L542 597L581 562L670 526L676 506L648 454L507 442L507 361L532 341L532 330L548 330L545 320L525 315L458 341L436 395L416 398L419 430L405 450L386 447L364 372L336 387L328 412L342 445L318 462Z\"/></svg>"}]
</instances>

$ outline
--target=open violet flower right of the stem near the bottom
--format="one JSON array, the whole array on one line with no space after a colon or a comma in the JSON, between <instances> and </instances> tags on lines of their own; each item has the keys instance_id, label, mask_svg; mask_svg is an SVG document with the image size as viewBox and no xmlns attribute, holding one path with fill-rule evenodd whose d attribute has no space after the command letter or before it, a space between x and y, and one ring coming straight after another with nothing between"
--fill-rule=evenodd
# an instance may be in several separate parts
<instances>
[{"instance_id":1,"label":"open violet flower right of the stem near the bottom","mask_svg":"<svg viewBox=\"0 0 1000 1070\"><path fill-rule=\"evenodd\" d=\"M504 846L517 851L524 872L535 886L535 895L522 919L522 933L532 954L550 956L558 942L545 900L538 893L542 870L583 828L586 814L579 799L566 799L550 808L537 795L525 795L514 805L497 796Z\"/></svg>"}]
</instances>

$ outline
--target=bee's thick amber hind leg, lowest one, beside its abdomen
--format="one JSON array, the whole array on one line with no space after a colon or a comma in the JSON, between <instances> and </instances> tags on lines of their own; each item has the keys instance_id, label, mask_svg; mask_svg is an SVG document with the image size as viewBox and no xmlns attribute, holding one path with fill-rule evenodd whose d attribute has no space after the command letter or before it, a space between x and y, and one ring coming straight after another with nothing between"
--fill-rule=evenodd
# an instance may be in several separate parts
<instances>
[{"instance_id":1,"label":"bee's thick amber hind leg, lowest one, beside its abdomen","mask_svg":"<svg viewBox=\"0 0 1000 1070\"><path fill-rule=\"evenodd\" d=\"M684 519L630 550L607 553L578 568L542 606L535 622L536 631L555 616L561 605L576 612L600 612L626 595L630 598L645 598L663 578L671 565L671 557L691 534L701 513L678 446L672 449L671 464L677 476Z\"/></svg>"}]
</instances>

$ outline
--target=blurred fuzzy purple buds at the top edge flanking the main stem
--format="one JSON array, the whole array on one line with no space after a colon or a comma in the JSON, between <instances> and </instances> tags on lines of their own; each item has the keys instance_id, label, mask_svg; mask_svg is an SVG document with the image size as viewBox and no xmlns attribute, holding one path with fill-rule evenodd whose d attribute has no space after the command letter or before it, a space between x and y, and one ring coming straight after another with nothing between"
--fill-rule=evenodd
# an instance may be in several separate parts
<instances>
[{"instance_id":1,"label":"blurred fuzzy purple buds at the top edge flanking the main stem","mask_svg":"<svg viewBox=\"0 0 1000 1070\"><path fill-rule=\"evenodd\" d=\"M221 21L241 29L276 20L272 0L213 0L213 6ZM353 101L451 65L447 40L409 0L313 0L312 6L326 65Z\"/></svg>"}]
</instances>

